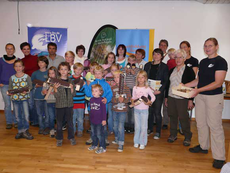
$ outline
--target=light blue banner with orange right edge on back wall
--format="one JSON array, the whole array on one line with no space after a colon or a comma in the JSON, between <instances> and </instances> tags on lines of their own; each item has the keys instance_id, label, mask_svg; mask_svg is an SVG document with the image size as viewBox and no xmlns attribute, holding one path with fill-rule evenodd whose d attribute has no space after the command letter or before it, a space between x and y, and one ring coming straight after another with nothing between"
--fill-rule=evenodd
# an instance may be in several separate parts
<instances>
[{"instance_id":1,"label":"light blue banner with orange right edge on back wall","mask_svg":"<svg viewBox=\"0 0 230 173\"><path fill-rule=\"evenodd\" d=\"M137 49L144 49L144 60L151 61L154 47L154 29L117 29L116 46L119 44L126 46L127 57L135 54Z\"/></svg>"}]
</instances>

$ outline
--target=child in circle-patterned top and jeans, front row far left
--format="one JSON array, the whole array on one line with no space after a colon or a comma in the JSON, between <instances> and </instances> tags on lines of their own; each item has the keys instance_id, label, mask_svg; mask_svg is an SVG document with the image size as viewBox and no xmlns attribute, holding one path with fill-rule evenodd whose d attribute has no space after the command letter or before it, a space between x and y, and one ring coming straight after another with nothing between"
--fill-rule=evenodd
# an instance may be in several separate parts
<instances>
[{"instance_id":1,"label":"child in circle-patterned top and jeans, front row far left","mask_svg":"<svg viewBox=\"0 0 230 173\"><path fill-rule=\"evenodd\" d=\"M19 89L23 87L28 87L29 90L32 89L30 76L23 72L24 68L25 66L22 60L16 60L14 62L14 69L16 71L16 74L10 77L9 90ZM29 92L30 91L24 91L23 93L17 93L11 96L15 116L18 121L18 133L15 136L15 139L26 138L28 140L31 140L34 138L29 133Z\"/></svg>"}]
</instances>

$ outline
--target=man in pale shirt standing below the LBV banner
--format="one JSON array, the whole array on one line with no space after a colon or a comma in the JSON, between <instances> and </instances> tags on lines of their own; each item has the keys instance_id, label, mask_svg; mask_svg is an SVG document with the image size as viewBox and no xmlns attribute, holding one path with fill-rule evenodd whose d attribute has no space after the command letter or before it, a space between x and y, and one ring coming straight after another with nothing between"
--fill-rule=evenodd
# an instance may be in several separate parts
<instances>
[{"instance_id":1,"label":"man in pale shirt standing below the LBV banner","mask_svg":"<svg viewBox=\"0 0 230 173\"><path fill-rule=\"evenodd\" d=\"M54 67L58 68L58 65L61 62L65 62L65 59L62 56L56 54L56 52L57 52L57 45L56 45L56 43L50 42L47 45L47 49L48 49L48 52L49 52L49 56L47 57L48 60L49 60L49 66L48 66L48 68L50 68L51 66L54 66Z\"/></svg>"}]
</instances>

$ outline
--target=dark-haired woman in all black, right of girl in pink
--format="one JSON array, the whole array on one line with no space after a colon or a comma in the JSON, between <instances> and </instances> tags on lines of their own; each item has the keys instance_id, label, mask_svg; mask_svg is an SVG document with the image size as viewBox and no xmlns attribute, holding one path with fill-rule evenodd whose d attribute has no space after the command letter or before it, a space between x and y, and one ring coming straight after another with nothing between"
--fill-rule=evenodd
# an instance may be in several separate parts
<instances>
[{"instance_id":1,"label":"dark-haired woman in all black, right of girl in pink","mask_svg":"<svg viewBox=\"0 0 230 173\"><path fill-rule=\"evenodd\" d=\"M164 100L165 87L168 81L168 67L162 62L163 51L159 48L153 51L153 61L145 64L144 70L148 74L148 79L160 80L161 87L159 90L153 90L156 100L149 107L148 134L153 133L153 120L156 120L156 133L154 139L160 139L161 136L161 107Z\"/></svg>"}]
</instances>

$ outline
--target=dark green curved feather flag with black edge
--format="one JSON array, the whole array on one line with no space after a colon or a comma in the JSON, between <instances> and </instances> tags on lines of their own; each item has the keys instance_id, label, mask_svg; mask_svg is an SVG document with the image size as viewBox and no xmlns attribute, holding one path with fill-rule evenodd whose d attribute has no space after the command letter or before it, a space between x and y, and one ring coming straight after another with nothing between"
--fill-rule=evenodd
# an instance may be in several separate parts
<instances>
[{"instance_id":1,"label":"dark green curved feather flag with black edge","mask_svg":"<svg viewBox=\"0 0 230 173\"><path fill-rule=\"evenodd\" d=\"M116 29L113 25L104 25L98 29L89 47L88 58L91 62L104 64L107 54L116 45Z\"/></svg>"}]
</instances>

